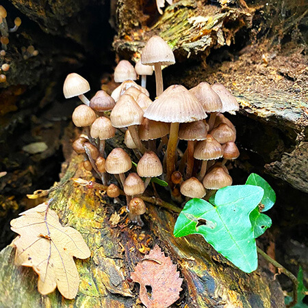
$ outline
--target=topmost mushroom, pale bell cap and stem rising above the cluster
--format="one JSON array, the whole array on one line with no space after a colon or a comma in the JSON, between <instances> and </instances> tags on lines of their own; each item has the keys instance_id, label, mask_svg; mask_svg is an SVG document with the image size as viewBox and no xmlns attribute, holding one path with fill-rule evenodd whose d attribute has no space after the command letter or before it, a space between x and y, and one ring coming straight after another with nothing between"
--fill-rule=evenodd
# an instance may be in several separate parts
<instances>
[{"instance_id":1,"label":"topmost mushroom, pale bell cap and stem rising above the cluster","mask_svg":"<svg viewBox=\"0 0 308 308\"><path fill-rule=\"evenodd\" d=\"M141 63L154 66L156 80L156 96L164 91L162 66L175 64L175 55L170 46L159 36L152 36L142 50Z\"/></svg>"}]
</instances>

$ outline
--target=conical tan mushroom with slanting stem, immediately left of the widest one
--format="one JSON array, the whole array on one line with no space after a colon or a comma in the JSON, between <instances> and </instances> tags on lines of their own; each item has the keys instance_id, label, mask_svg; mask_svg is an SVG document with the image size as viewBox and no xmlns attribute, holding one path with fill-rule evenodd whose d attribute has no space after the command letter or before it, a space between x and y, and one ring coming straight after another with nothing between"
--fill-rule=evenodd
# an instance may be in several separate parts
<instances>
[{"instance_id":1,"label":"conical tan mushroom with slanting stem, immediately left of the widest one","mask_svg":"<svg viewBox=\"0 0 308 308\"><path fill-rule=\"evenodd\" d=\"M137 145L140 152L146 150L142 145L138 135L138 125L141 124L143 110L138 106L129 94L123 94L110 113L112 126L116 128L128 127L133 142Z\"/></svg>"}]
</instances>

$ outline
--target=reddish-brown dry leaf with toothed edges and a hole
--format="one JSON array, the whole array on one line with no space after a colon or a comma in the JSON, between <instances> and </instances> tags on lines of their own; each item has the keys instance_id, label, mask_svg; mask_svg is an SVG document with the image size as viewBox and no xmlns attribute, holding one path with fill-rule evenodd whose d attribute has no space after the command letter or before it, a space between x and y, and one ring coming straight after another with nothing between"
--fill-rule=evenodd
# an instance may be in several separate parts
<instances>
[{"instance_id":1,"label":"reddish-brown dry leaf with toothed edges and a hole","mask_svg":"<svg viewBox=\"0 0 308 308\"><path fill-rule=\"evenodd\" d=\"M146 308L169 307L179 299L182 278L170 257L165 257L158 245L136 265L131 279L140 283L140 300ZM151 298L146 286L151 287Z\"/></svg>"}]
</instances>

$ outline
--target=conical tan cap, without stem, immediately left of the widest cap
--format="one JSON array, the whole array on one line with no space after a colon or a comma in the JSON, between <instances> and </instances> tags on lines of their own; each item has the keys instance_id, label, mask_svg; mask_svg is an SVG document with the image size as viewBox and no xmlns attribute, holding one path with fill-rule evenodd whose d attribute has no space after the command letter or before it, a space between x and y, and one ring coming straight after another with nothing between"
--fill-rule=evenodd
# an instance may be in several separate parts
<instances>
[{"instance_id":1,"label":"conical tan cap, without stem, immediately left of the widest cap","mask_svg":"<svg viewBox=\"0 0 308 308\"><path fill-rule=\"evenodd\" d=\"M143 119L143 110L136 100L129 94L123 94L110 113L112 126L116 128L131 125L140 125Z\"/></svg>"}]
</instances>

